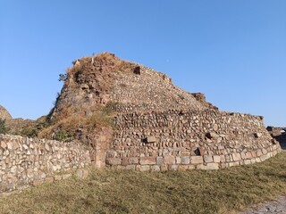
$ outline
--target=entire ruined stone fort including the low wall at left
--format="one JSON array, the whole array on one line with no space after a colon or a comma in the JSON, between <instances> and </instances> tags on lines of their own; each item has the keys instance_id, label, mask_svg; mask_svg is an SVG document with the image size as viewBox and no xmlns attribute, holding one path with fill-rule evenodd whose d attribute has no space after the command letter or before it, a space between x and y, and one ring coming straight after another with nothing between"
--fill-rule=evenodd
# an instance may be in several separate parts
<instances>
[{"instance_id":1,"label":"entire ruined stone fort including the low wall at left","mask_svg":"<svg viewBox=\"0 0 286 214\"><path fill-rule=\"evenodd\" d=\"M263 117L219 111L205 95L188 93L164 73L113 53L76 60L62 80L46 125L29 121L38 128L36 137L0 135L2 192L62 179L59 172L90 164L139 171L224 169L281 152ZM0 116L13 127L3 107Z\"/></svg>"}]
</instances>

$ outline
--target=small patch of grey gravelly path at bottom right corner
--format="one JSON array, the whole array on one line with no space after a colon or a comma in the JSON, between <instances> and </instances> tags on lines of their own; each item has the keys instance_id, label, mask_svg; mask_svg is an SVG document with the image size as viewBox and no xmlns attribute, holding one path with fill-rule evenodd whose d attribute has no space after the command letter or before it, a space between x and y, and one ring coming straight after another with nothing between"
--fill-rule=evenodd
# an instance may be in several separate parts
<instances>
[{"instance_id":1,"label":"small patch of grey gravelly path at bottom right corner","mask_svg":"<svg viewBox=\"0 0 286 214\"><path fill-rule=\"evenodd\" d=\"M238 214L263 214L263 213L286 214L286 196L280 197L272 202L265 202L262 204L258 204L256 207L252 209L238 212Z\"/></svg>"}]
</instances>

